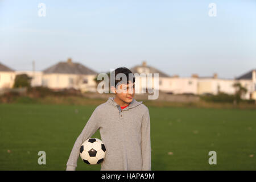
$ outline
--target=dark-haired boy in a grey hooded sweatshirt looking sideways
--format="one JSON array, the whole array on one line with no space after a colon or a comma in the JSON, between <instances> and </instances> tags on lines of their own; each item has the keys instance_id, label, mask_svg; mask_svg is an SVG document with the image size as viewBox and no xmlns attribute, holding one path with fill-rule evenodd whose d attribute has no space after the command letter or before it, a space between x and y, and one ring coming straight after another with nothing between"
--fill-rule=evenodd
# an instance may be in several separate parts
<instances>
[{"instance_id":1,"label":"dark-haired boy in a grey hooded sweatshirt looking sideways","mask_svg":"<svg viewBox=\"0 0 256 182\"><path fill-rule=\"evenodd\" d=\"M115 97L96 107L77 138L67 162L67 171L75 170L81 144L100 129L106 156L101 163L103 170L151 170L150 115L148 108L134 97L133 73L125 68L115 69L126 75L115 80L110 89ZM130 78L129 74L133 77ZM130 80L129 80L130 79Z\"/></svg>"}]
</instances>

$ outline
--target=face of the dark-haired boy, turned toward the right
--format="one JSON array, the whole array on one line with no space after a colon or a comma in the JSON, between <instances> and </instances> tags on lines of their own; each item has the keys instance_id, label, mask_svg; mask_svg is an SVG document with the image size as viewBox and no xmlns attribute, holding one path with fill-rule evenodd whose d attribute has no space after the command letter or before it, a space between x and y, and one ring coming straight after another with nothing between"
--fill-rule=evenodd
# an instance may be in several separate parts
<instances>
[{"instance_id":1,"label":"face of the dark-haired boy, turned toward the right","mask_svg":"<svg viewBox=\"0 0 256 182\"><path fill-rule=\"evenodd\" d=\"M123 102L130 103L133 101L135 87L134 83L129 81L129 84L120 84L115 89L115 97L118 97L119 100Z\"/></svg>"}]
</instances>

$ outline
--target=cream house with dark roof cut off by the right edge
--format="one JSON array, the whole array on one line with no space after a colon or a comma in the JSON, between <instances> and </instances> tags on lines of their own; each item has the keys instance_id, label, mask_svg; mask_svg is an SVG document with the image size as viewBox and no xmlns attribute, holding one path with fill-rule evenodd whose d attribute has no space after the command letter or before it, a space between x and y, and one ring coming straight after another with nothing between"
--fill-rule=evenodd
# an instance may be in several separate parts
<instances>
[{"instance_id":1,"label":"cream house with dark roof cut off by the right edge","mask_svg":"<svg viewBox=\"0 0 256 182\"><path fill-rule=\"evenodd\" d=\"M236 81L240 82L247 89L247 93L245 94L246 99L256 100L256 69L252 69L237 77Z\"/></svg>"}]
</instances>

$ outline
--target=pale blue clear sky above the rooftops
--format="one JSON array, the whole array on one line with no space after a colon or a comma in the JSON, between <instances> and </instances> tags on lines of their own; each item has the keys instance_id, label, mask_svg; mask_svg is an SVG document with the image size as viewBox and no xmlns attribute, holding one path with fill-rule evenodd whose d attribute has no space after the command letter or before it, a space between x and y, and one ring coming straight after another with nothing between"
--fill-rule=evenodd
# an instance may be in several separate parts
<instances>
[{"instance_id":1,"label":"pale blue clear sky above the rooftops","mask_svg":"<svg viewBox=\"0 0 256 182\"><path fill-rule=\"evenodd\" d=\"M256 1L0 0L0 63L42 71L68 57L99 73L146 60L170 76L241 76L256 69Z\"/></svg>"}]
</instances>

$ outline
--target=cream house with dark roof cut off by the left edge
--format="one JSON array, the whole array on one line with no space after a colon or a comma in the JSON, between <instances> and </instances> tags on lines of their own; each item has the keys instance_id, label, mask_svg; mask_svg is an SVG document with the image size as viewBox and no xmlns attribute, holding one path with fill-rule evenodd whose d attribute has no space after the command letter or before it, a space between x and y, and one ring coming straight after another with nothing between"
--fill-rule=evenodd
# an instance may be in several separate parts
<instances>
[{"instance_id":1,"label":"cream house with dark roof cut off by the left edge","mask_svg":"<svg viewBox=\"0 0 256 182\"><path fill-rule=\"evenodd\" d=\"M14 70L0 63L0 89L13 88L14 80Z\"/></svg>"}]
</instances>

